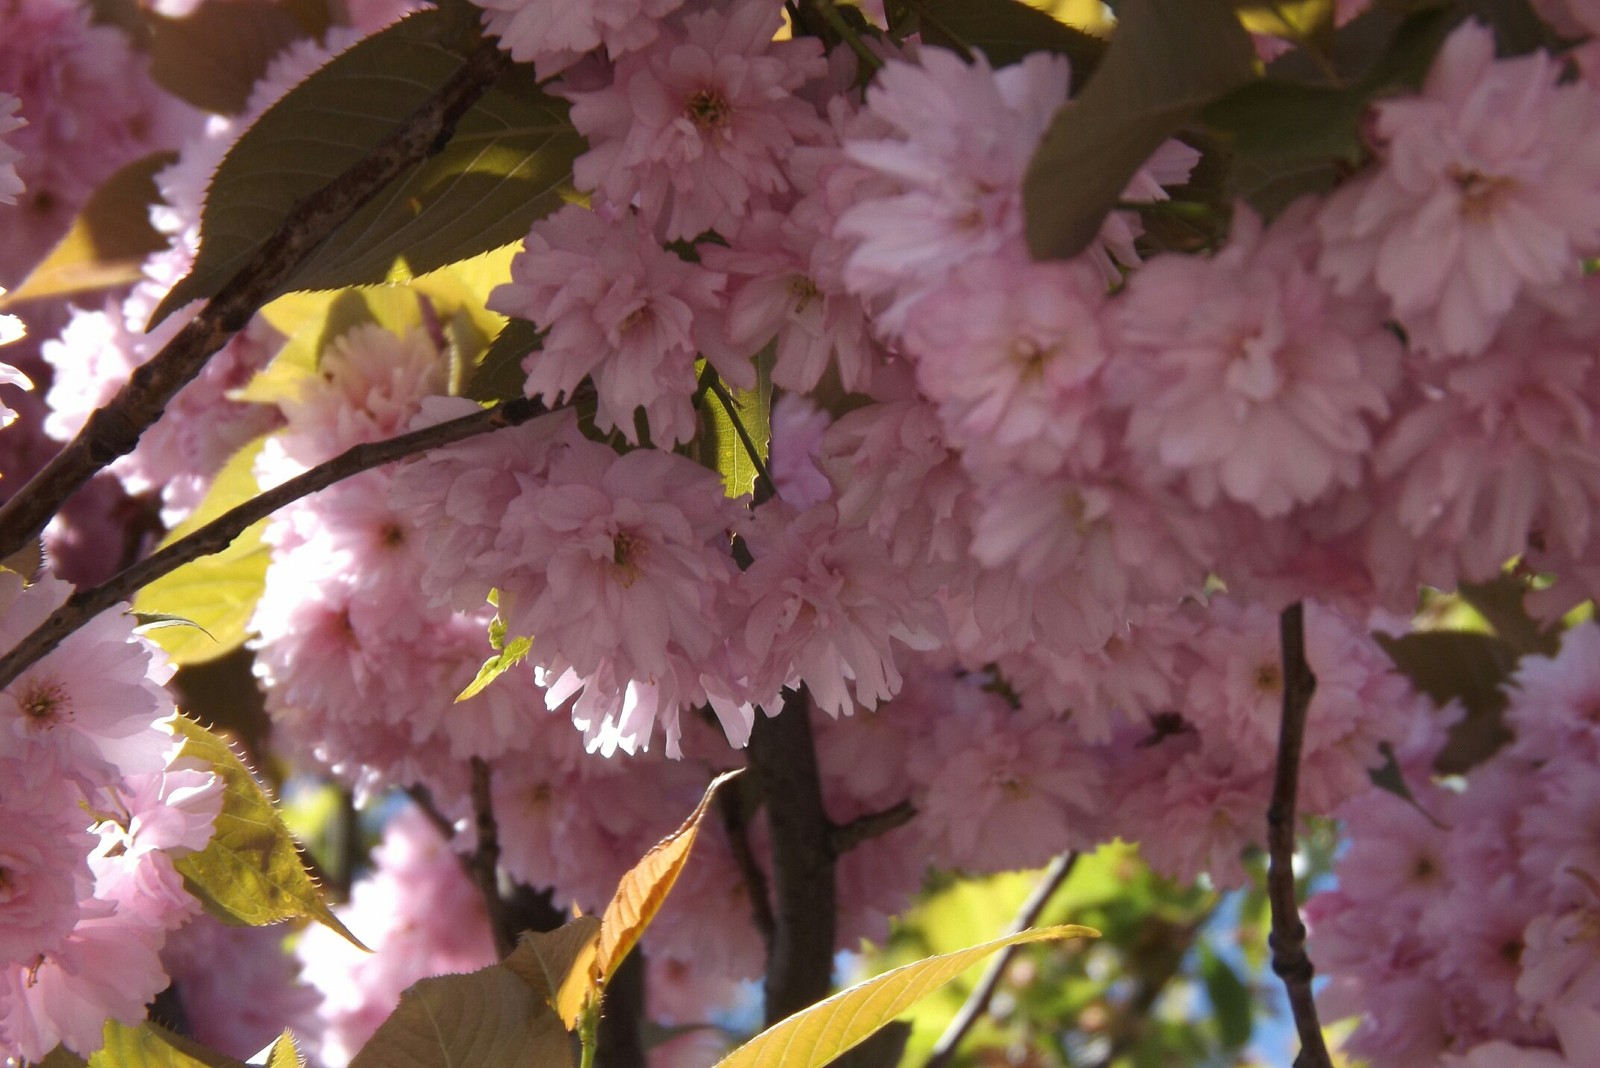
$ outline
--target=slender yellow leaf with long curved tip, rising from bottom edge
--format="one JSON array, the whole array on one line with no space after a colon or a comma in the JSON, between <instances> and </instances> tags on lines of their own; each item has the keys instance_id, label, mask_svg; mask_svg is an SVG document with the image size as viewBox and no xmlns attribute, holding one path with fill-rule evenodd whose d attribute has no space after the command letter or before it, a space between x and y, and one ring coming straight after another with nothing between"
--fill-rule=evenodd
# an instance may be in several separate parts
<instances>
[{"instance_id":1,"label":"slender yellow leaf with long curved tip, rising from bottom edge","mask_svg":"<svg viewBox=\"0 0 1600 1068\"><path fill-rule=\"evenodd\" d=\"M1024 942L1096 937L1098 931L1075 924L1035 927L896 967L774 1023L717 1062L717 1068L822 1068L995 950Z\"/></svg>"}]
</instances>

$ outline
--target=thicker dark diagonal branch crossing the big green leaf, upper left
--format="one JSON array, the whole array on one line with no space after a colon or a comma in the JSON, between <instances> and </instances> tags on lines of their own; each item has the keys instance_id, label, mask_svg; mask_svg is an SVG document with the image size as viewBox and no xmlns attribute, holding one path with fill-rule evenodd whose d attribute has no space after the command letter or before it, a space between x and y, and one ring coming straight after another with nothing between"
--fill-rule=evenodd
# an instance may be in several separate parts
<instances>
[{"instance_id":1,"label":"thicker dark diagonal branch crossing the big green leaf, upper left","mask_svg":"<svg viewBox=\"0 0 1600 1068\"><path fill-rule=\"evenodd\" d=\"M445 147L456 123L483 96L509 59L483 42L462 67L371 152L306 197L214 297L118 393L94 411L14 497L0 505L0 560L35 540L96 472L131 452L166 403L285 283L301 262L410 166Z\"/></svg>"}]
</instances>

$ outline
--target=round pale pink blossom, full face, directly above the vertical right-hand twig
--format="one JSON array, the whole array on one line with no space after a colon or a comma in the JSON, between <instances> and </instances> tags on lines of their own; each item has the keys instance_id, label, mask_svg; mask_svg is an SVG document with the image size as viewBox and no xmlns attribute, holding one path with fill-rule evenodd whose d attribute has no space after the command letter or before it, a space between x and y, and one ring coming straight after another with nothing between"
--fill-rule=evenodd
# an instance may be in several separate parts
<instances>
[{"instance_id":1,"label":"round pale pink blossom, full face, directly above the vertical right-hand twig","mask_svg":"<svg viewBox=\"0 0 1600 1068\"><path fill-rule=\"evenodd\" d=\"M1314 270L1314 203L1272 227L1248 206L1210 259L1163 254L1117 302L1112 403L1150 481L1179 476L1283 516L1365 475L1402 349L1371 299L1338 297Z\"/></svg>"}]
</instances>

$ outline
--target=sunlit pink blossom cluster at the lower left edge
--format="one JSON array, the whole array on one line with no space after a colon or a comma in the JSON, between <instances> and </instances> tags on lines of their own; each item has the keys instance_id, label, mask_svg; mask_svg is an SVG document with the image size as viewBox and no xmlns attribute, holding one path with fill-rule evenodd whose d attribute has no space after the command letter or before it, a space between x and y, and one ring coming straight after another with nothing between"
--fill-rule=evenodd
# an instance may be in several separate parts
<instances>
[{"instance_id":1,"label":"sunlit pink blossom cluster at the lower left edge","mask_svg":"<svg viewBox=\"0 0 1600 1068\"><path fill-rule=\"evenodd\" d=\"M69 587L0 571L14 643ZM173 860L203 849L222 804L179 755L171 675L107 612L0 691L0 1057L101 1046L107 1017L144 1018L168 977L160 950L200 911Z\"/></svg>"}]
</instances>

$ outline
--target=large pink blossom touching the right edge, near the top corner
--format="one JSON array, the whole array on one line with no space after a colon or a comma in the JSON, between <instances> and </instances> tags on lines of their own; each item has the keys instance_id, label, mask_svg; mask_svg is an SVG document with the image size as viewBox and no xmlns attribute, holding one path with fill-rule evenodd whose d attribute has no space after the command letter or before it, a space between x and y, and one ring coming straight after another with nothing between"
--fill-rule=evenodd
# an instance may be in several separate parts
<instances>
[{"instance_id":1,"label":"large pink blossom touching the right edge, near the top corner","mask_svg":"<svg viewBox=\"0 0 1600 1068\"><path fill-rule=\"evenodd\" d=\"M1600 249L1595 109L1554 56L1496 59L1493 32L1462 24L1418 96L1376 106L1381 161L1322 209L1322 269L1376 285L1413 345L1482 352L1518 294Z\"/></svg>"}]
</instances>

